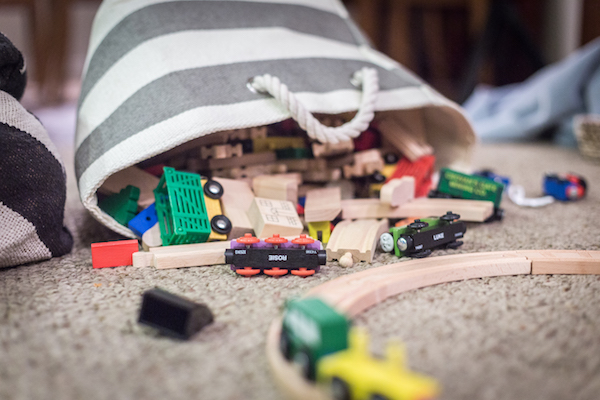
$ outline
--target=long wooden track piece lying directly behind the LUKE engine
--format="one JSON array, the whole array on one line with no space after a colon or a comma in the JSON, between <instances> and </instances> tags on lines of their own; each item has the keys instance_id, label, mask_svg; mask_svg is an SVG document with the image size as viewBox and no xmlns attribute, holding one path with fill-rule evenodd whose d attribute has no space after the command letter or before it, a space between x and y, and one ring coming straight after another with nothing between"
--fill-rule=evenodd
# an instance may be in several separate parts
<instances>
[{"instance_id":1,"label":"long wooden track piece lying directly behind the LUKE engine","mask_svg":"<svg viewBox=\"0 0 600 400\"><path fill-rule=\"evenodd\" d=\"M494 203L480 200L461 199L414 199L399 207L382 203L379 199L342 200L343 219L408 218L419 216L441 216L447 211L460 215L462 221L483 222L494 213Z\"/></svg>"}]
</instances>

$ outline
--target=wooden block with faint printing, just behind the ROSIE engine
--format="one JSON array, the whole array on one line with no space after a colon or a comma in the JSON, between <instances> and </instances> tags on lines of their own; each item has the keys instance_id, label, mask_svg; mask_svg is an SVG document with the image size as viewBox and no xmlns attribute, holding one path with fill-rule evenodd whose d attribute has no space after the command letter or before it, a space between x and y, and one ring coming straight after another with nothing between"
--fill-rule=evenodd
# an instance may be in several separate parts
<instances>
[{"instance_id":1,"label":"wooden block with faint printing, just behind the ROSIE engine","mask_svg":"<svg viewBox=\"0 0 600 400\"><path fill-rule=\"evenodd\" d=\"M275 233L297 236L304 229L291 201L255 197L248 210L248 218L258 238L271 237Z\"/></svg>"}]
</instances>

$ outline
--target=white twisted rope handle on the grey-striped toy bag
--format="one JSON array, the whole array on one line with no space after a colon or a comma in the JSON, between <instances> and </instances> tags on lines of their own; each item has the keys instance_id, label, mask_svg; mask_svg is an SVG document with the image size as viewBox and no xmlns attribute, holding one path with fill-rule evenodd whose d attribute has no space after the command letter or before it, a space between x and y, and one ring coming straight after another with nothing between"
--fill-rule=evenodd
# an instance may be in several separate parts
<instances>
[{"instance_id":1,"label":"white twisted rope handle on the grey-striped toy bag","mask_svg":"<svg viewBox=\"0 0 600 400\"><path fill-rule=\"evenodd\" d=\"M367 130L375 116L375 101L379 91L377 70L365 67L357 71L351 81L355 86L362 86L363 95L360 107L354 118L338 127L321 124L276 76L269 74L256 76L248 84L251 89L259 93L269 93L283 104L289 110L292 118L312 139L321 143L338 143L358 137Z\"/></svg>"}]
</instances>

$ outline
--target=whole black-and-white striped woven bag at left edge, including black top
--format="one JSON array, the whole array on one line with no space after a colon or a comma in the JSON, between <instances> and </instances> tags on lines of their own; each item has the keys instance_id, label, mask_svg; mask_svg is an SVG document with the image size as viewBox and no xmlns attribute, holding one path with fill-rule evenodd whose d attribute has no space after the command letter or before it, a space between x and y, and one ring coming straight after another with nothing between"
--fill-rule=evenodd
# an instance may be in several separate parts
<instances>
[{"instance_id":1,"label":"whole black-and-white striped woven bag at left edge, including black top","mask_svg":"<svg viewBox=\"0 0 600 400\"><path fill-rule=\"evenodd\" d=\"M0 267L61 256L65 168L40 121L19 103L27 73L21 52L0 34Z\"/></svg>"}]
</instances>

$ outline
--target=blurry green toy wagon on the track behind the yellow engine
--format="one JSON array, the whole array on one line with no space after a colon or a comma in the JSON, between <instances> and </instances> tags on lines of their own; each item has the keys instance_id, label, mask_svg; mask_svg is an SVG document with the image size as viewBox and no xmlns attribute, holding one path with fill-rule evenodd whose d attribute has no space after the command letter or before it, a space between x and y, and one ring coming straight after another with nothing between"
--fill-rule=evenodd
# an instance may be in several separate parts
<instances>
[{"instance_id":1,"label":"blurry green toy wagon on the track behind the yellow engine","mask_svg":"<svg viewBox=\"0 0 600 400\"><path fill-rule=\"evenodd\" d=\"M348 347L349 327L350 321L321 299L288 301L281 328L281 353L299 365L305 378L314 380L321 357Z\"/></svg>"}]
</instances>

